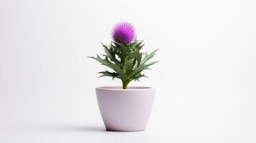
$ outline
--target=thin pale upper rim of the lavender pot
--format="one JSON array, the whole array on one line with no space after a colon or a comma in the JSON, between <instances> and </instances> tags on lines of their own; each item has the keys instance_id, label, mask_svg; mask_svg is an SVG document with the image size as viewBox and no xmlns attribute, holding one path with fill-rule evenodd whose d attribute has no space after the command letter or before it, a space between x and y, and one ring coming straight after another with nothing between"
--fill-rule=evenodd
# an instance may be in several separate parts
<instances>
[{"instance_id":1,"label":"thin pale upper rim of the lavender pot","mask_svg":"<svg viewBox=\"0 0 256 143\"><path fill-rule=\"evenodd\" d=\"M108 91L138 91L138 90L153 90L153 87L143 87L143 86L129 86L128 89L123 89L120 86L104 86L96 87L95 89L108 90Z\"/></svg>"}]
</instances>

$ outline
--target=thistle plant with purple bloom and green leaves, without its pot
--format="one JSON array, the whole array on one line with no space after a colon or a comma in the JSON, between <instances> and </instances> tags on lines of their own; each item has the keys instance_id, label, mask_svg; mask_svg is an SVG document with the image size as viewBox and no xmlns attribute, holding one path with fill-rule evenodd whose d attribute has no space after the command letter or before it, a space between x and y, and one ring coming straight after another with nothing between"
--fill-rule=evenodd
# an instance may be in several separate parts
<instances>
[{"instance_id":1,"label":"thistle plant with purple bloom and green leaves, without its pot","mask_svg":"<svg viewBox=\"0 0 256 143\"><path fill-rule=\"evenodd\" d=\"M149 59L156 55L156 51L143 53L143 41L138 41L136 31L132 24L127 22L116 24L112 31L113 41L109 45L103 45L105 54L90 56L99 61L102 65L108 66L113 71L101 71L100 77L112 77L120 79L123 89L127 89L131 81L139 81L141 77L146 77L142 71L149 69L157 61L149 62Z\"/></svg>"}]
</instances>

